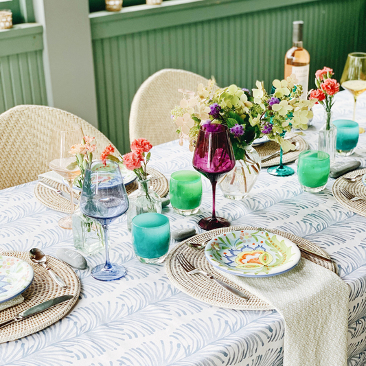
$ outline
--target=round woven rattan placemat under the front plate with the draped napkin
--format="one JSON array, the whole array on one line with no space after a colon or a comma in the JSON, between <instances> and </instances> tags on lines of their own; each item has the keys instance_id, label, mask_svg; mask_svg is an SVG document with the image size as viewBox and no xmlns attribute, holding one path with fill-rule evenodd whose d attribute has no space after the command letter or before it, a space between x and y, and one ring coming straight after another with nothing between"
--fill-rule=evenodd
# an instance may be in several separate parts
<instances>
[{"instance_id":1,"label":"round woven rattan placemat under the front plate with the draped napkin","mask_svg":"<svg viewBox=\"0 0 366 366\"><path fill-rule=\"evenodd\" d=\"M205 233L198 234L184 240L179 243L170 251L168 257L165 260L165 270L168 274L168 277L172 284L179 288L183 293L190 295L198 300L201 300L207 304L219 306L220 308L229 308L229 309L238 309L238 310L273 310L273 307L267 304L265 301L256 297L255 295L249 293L249 291L245 290L229 281L225 276L221 275L220 272L216 271L214 266L209 264L209 262L205 258L205 251L195 250L186 245L187 242L205 242L211 238L214 238L221 233L227 233L228 231L235 230L251 230L251 229L259 229L257 227L227 227L224 229L216 229L212 231L207 231ZM299 236L295 236L290 233L285 233L284 231L279 231L276 229L264 229L267 231L271 231L271 233L275 233L277 235L284 236L284 238L288 238L295 244L301 244L304 248L310 249L314 251L314 253L318 253L320 255L325 255L325 257L330 258L327 253L321 250L317 245L300 238ZM228 293L226 290L222 289L218 284L211 281L204 275L188 275L179 264L176 259L177 253L183 253L187 260L189 260L196 268L200 268L207 273L211 273L217 279L220 279L222 282L226 282L231 286L237 288L242 291L246 295L249 296L249 300L238 299ZM335 272L336 268L333 262L325 262L323 260L319 260L318 258L313 257L312 255L308 255L301 252L301 255L314 262L323 266L324 268L329 269L330 271Z\"/></svg>"}]
</instances>

